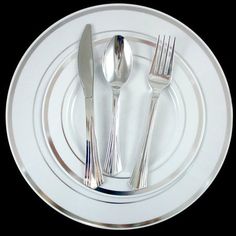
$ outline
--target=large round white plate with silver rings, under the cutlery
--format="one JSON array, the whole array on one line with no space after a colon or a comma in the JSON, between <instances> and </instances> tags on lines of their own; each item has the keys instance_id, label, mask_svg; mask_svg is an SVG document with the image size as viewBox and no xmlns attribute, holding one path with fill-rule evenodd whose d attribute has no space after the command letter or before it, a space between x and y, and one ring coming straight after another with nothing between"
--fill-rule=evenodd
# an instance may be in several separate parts
<instances>
[{"instance_id":1,"label":"large round white plate with silver rings, under the cutlery","mask_svg":"<svg viewBox=\"0 0 236 236\"><path fill-rule=\"evenodd\" d=\"M135 20L130 20L135 19ZM83 185L85 112L78 39L93 25L95 124L101 162L111 123L111 90L101 70L107 41L127 37L134 68L121 93L124 171L100 188ZM160 97L149 187L128 180L140 154L150 102L147 74L158 34L177 38L173 83ZM218 173L230 143L232 104L220 65L204 42L161 12L124 4L78 11L47 29L20 61L9 89L6 123L16 163L50 206L81 223L126 229L168 219L192 204Z\"/></svg>"}]
</instances>

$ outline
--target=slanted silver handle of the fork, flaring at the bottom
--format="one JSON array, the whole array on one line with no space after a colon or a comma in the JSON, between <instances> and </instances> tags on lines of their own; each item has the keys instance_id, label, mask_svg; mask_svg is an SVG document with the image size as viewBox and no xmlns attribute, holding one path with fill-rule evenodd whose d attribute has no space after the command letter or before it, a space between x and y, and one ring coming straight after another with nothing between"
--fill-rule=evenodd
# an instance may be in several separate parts
<instances>
[{"instance_id":1,"label":"slanted silver handle of the fork, flaring at the bottom","mask_svg":"<svg viewBox=\"0 0 236 236\"><path fill-rule=\"evenodd\" d=\"M148 163L149 163L149 152L152 141L152 133L155 125L156 117L156 106L158 101L157 95L152 96L149 113L148 113L148 122L147 128L145 130L144 141L142 145L141 156L136 163L132 176L130 177L130 186L134 190L146 188L148 184Z\"/></svg>"}]
</instances>

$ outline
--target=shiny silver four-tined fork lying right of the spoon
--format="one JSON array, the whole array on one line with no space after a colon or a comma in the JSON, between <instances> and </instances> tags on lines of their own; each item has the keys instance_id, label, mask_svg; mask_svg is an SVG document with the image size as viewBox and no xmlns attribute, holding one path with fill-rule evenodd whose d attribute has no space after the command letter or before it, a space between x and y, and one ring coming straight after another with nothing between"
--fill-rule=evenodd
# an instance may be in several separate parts
<instances>
[{"instance_id":1,"label":"shiny silver four-tined fork lying right of the spoon","mask_svg":"<svg viewBox=\"0 0 236 236\"><path fill-rule=\"evenodd\" d=\"M172 80L172 69L175 50L175 38L168 37L166 42L165 36L161 40L158 36L151 69L149 72L148 82L152 89L152 100L149 108L148 124L145 130L144 141L140 159L136 163L133 173L130 177L130 186L134 190L146 188L148 185L148 163L151 146L154 121L156 117L156 108L158 98Z\"/></svg>"}]
</instances>

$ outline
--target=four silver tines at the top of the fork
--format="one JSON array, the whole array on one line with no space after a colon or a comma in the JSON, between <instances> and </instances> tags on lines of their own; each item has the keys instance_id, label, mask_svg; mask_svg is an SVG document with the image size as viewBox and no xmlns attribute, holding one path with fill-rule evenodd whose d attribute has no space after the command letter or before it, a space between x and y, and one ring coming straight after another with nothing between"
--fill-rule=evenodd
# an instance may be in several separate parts
<instances>
[{"instance_id":1,"label":"four silver tines at the top of the fork","mask_svg":"<svg viewBox=\"0 0 236 236\"><path fill-rule=\"evenodd\" d=\"M173 67L174 51L175 51L175 37L166 36L157 38L156 49L152 60L150 74L170 76ZM167 41L167 42L166 42Z\"/></svg>"}]
</instances>

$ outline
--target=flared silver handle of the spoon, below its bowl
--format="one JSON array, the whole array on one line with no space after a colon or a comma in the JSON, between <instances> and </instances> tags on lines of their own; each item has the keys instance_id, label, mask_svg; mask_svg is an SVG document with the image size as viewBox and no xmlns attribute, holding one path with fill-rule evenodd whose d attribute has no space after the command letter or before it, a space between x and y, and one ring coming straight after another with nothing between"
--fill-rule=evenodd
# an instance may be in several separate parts
<instances>
[{"instance_id":1,"label":"flared silver handle of the spoon, below its bowl","mask_svg":"<svg viewBox=\"0 0 236 236\"><path fill-rule=\"evenodd\" d=\"M119 146L119 90L113 90L112 104L112 126L109 134L106 158L104 162L104 173L110 176L118 174L122 170Z\"/></svg>"}]
</instances>

